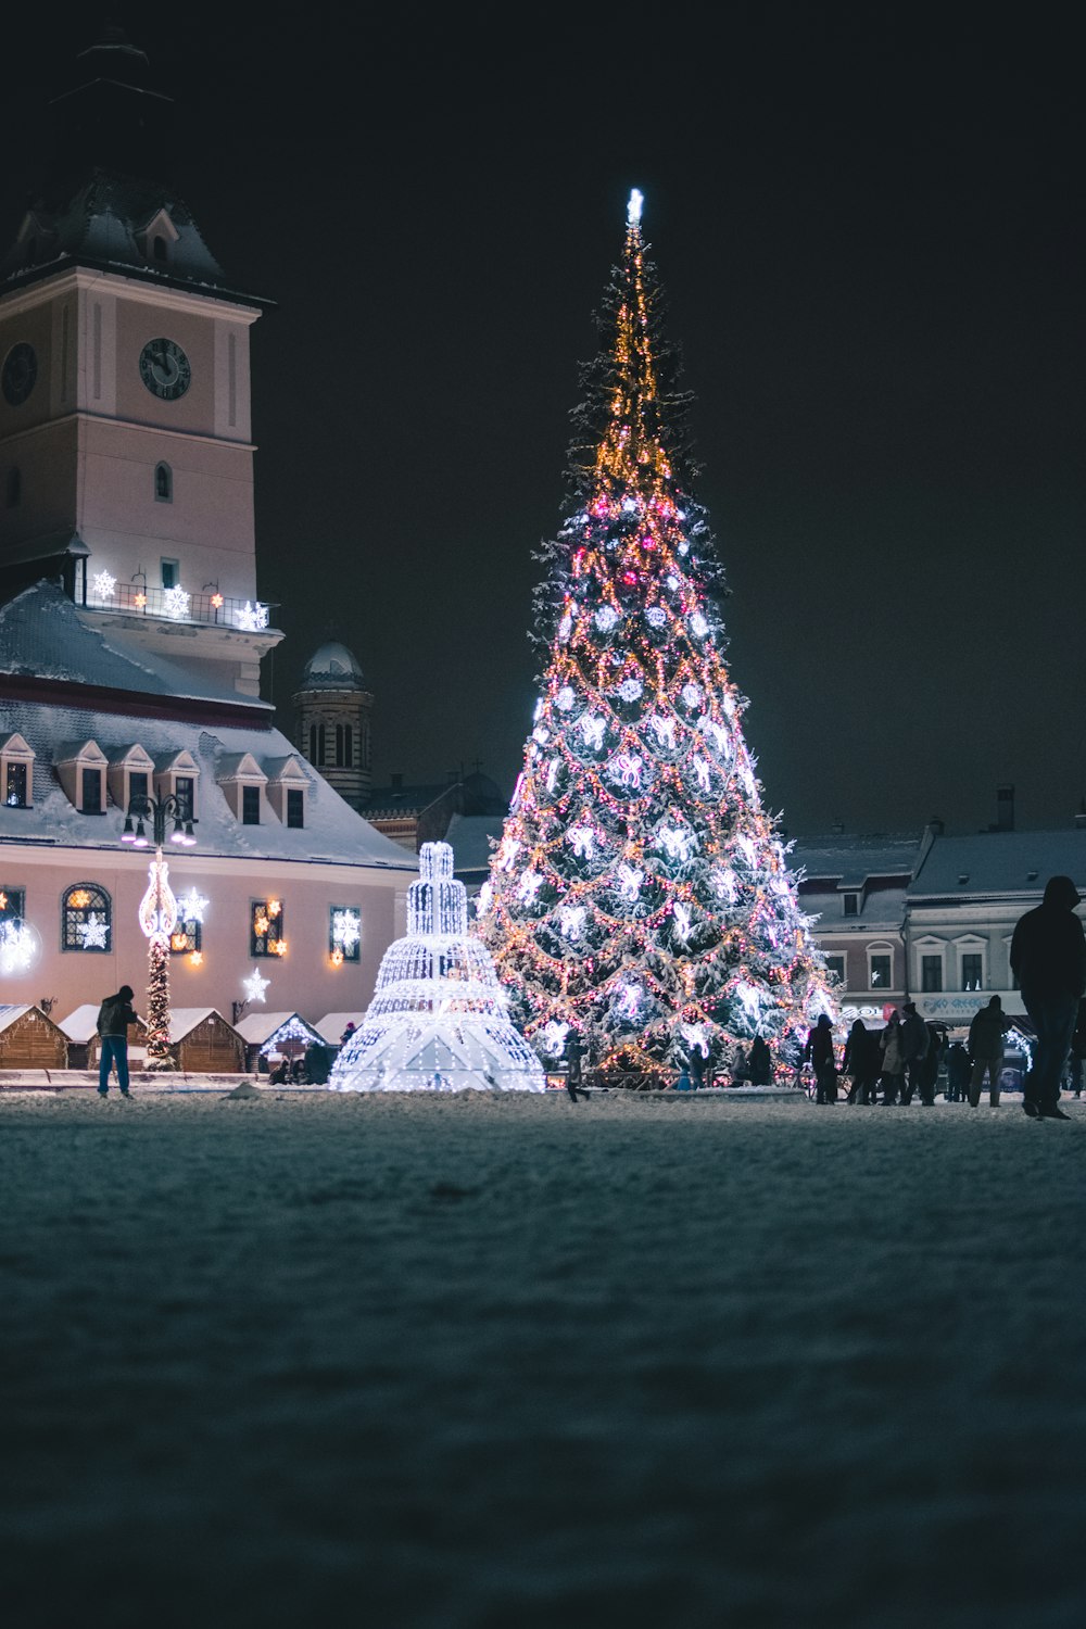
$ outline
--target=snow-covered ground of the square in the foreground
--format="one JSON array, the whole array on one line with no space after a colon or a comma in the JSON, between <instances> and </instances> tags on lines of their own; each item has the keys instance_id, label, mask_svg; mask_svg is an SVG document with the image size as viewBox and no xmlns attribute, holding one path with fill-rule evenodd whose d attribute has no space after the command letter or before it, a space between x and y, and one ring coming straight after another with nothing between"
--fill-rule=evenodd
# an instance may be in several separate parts
<instances>
[{"instance_id":1,"label":"snow-covered ground of the square in the foreground","mask_svg":"<svg viewBox=\"0 0 1086 1629\"><path fill-rule=\"evenodd\" d=\"M1070 1113L0 1095L3 1622L1079 1629Z\"/></svg>"}]
</instances>

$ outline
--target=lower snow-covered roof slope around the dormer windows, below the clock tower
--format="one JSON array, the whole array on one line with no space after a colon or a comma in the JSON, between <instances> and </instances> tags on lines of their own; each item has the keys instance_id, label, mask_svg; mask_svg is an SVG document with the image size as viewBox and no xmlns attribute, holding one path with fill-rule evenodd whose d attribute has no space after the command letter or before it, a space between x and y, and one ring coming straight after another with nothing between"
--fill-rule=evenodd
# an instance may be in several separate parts
<instances>
[{"instance_id":1,"label":"lower snow-covered roof slope around the dormer windows, below the clock tower","mask_svg":"<svg viewBox=\"0 0 1086 1629\"><path fill-rule=\"evenodd\" d=\"M0 842L70 844L112 847L120 842L125 811L107 803L104 814L81 814L72 806L54 769L59 743L93 740L109 762L140 744L156 762L179 751L192 754L199 771L195 792L197 844L205 855L246 858L316 860L337 865L379 867L412 873L417 862L389 837L374 831L316 771L308 777L304 826L285 826L272 808L259 826L246 826L220 787L223 766L251 756L261 772L265 764L296 756L278 730L257 727L202 728L171 718L140 718L86 707L50 707L0 697L0 736L18 730L36 753L33 808L0 805Z\"/></svg>"}]
</instances>

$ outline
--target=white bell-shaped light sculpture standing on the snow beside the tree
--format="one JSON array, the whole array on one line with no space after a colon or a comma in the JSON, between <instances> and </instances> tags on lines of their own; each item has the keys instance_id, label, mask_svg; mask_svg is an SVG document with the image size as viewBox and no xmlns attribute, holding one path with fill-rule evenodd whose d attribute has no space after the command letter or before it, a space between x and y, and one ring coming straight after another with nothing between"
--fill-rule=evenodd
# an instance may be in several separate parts
<instances>
[{"instance_id":1,"label":"white bell-shaped light sculpture standing on the snow beside the tree","mask_svg":"<svg viewBox=\"0 0 1086 1629\"><path fill-rule=\"evenodd\" d=\"M490 951L467 933L467 894L448 842L423 842L407 937L381 961L334 1091L544 1091L539 1059L510 1023Z\"/></svg>"}]
</instances>

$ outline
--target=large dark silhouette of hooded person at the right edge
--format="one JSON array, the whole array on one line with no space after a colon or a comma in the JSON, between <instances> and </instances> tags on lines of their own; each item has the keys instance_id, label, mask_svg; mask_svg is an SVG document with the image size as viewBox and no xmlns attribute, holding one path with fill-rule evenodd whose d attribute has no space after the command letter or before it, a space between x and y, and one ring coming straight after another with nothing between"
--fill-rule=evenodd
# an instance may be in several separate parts
<instances>
[{"instance_id":1,"label":"large dark silhouette of hooded person at the right edge","mask_svg":"<svg viewBox=\"0 0 1086 1629\"><path fill-rule=\"evenodd\" d=\"M1081 898L1070 876L1050 876L1044 899L1018 919L1011 938L1011 971L1037 1031L1023 1087L1023 1108L1034 1119L1071 1117L1060 1108L1060 1077L1086 994L1086 933L1075 915Z\"/></svg>"}]
</instances>

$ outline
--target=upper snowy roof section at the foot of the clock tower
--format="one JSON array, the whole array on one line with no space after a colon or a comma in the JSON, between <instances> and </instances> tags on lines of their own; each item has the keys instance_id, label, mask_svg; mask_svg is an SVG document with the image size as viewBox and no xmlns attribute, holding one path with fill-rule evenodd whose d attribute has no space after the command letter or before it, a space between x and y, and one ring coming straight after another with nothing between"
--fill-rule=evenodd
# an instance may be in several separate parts
<instances>
[{"instance_id":1,"label":"upper snowy roof section at the foot of the clock tower","mask_svg":"<svg viewBox=\"0 0 1086 1629\"><path fill-rule=\"evenodd\" d=\"M238 691L215 676L213 665L171 661L127 645L122 630L107 637L99 627L86 627L77 606L49 582L34 583L0 606L0 673L24 674L67 684L93 684L137 696L189 697L221 700L238 705ZM249 709L269 702L244 697Z\"/></svg>"}]
</instances>

